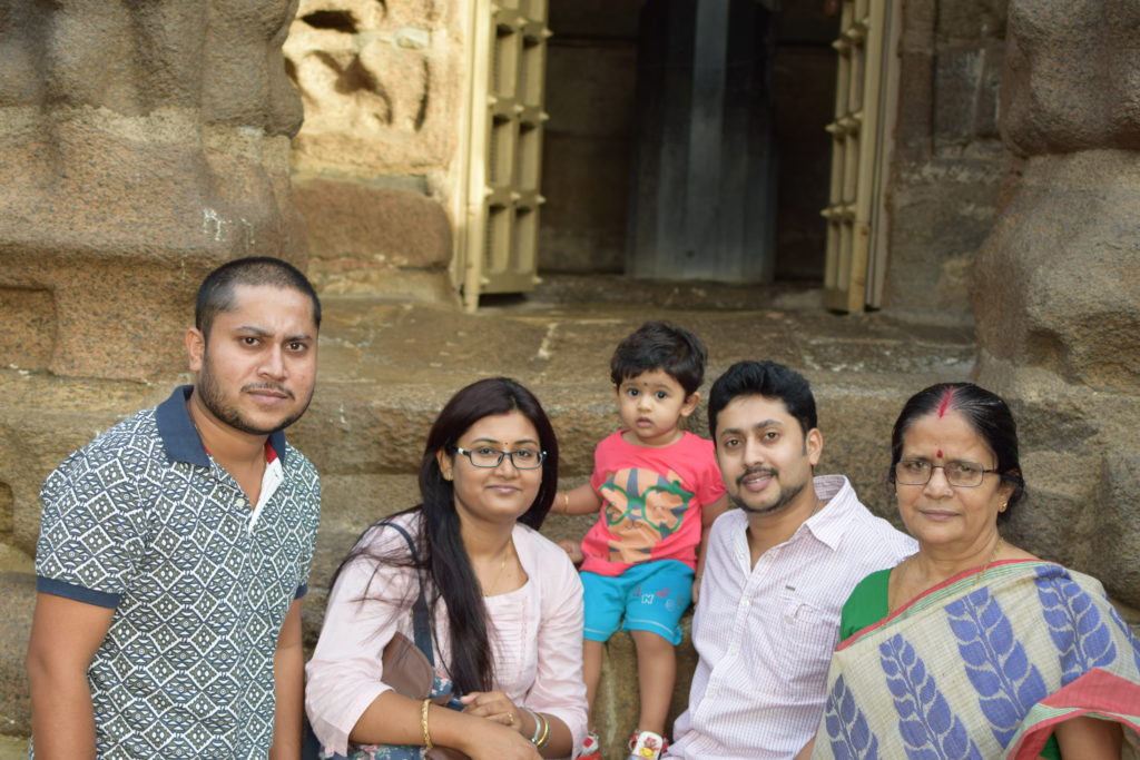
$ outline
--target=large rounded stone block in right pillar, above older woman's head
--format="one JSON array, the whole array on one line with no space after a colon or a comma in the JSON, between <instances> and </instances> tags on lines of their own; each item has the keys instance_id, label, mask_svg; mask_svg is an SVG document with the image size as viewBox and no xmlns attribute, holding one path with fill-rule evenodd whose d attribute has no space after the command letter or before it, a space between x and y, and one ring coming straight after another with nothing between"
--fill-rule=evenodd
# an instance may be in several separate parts
<instances>
[{"instance_id":1,"label":"large rounded stone block in right pillar, above older woman's head","mask_svg":"<svg viewBox=\"0 0 1140 760\"><path fill-rule=\"evenodd\" d=\"M982 345L1069 382L1134 390L1140 375L1140 202L1134 154L1031 158L978 254ZM1075 223L1080 220L1080 223Z\"/></svg>"}]
</instances>

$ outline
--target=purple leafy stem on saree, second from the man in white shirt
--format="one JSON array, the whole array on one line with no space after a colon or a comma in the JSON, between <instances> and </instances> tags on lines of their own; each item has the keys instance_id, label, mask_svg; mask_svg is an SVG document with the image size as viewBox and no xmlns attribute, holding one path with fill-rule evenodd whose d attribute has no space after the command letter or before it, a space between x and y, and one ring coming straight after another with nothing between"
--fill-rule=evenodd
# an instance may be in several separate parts
<instances>
[{"instance_id":1,"label":"purple leafy stem on saree, second from the man in white shirt","mask_svg":"<svg viewBox=\"0 0 1140 760\"><path fill-rule=\"evenodd\" d=\"M926 663L902 635L879 645L879 662L898 713L898 733L912 760L982 760L982 753L955 716Z\"/></svg>"}]
</instances>

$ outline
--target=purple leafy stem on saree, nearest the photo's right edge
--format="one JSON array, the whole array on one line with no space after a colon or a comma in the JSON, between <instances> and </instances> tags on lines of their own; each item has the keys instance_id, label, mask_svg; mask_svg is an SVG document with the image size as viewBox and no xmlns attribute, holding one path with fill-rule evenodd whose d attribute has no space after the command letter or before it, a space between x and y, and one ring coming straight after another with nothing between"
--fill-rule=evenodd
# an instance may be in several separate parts
<instances>
[{"instance_id":1,"label":"purple leafy stem on saree, nearest the photo's right edge","mask_svg":"<svg viewBox=\"0 0 1140 760\"><path fill-rule=\"evenodd\" d=\"M1088 591L1058 566L1037 569L1037 598L1060 655L1061 686L1116 659L1113 634Z\"/></svg>"}]
</instances>

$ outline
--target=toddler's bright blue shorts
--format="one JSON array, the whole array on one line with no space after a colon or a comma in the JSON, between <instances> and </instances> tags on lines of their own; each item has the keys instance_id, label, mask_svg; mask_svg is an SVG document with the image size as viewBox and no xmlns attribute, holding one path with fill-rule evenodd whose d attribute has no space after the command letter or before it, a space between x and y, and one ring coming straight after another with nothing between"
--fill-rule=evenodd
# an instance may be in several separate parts
<instances>
[{"instance_id":1,"label":"toddler's bright blue shorts","mask_svg":"<svg viewBox=\"0 0 1140 760\"><path fill-rule=\"evenodd\" d=\"M676 559L634 565L620 575L581 573L586 628L591 641L608 641L624 631L651 631L681 644L681 615L693 600L693 569Z\"/></svg>"}]
</instances>

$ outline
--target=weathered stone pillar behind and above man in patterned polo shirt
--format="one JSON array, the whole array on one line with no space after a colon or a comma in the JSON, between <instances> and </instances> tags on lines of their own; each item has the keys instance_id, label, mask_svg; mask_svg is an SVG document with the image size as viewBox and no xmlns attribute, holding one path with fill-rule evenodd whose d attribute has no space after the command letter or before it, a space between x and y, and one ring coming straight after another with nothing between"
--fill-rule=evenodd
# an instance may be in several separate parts
<instances>
[{"instance_id":1,"label":"weathered stone pillar behind and above man in patterned polo shirt","mask_svg":"<svg viewBox=\"0 0 1140 760\"><path fill-rule=\"evenodd\" d=\"M303 264L290 0L0 3L5 363L144 378L239 255ZM157 346L157 349L156 349ZM169 346L169 348L168 348Z\"/></svg>"}]
</instances>

